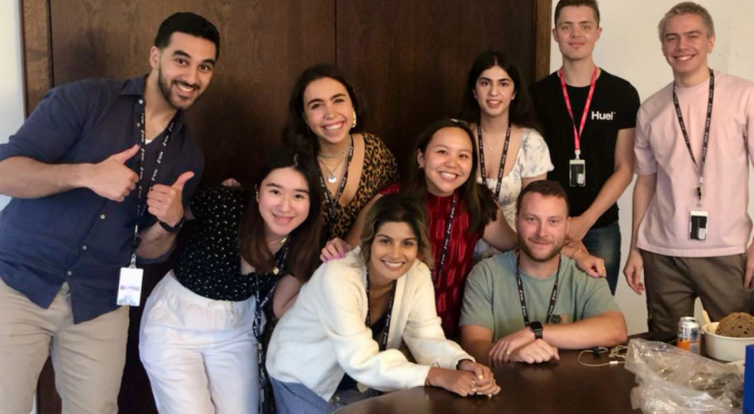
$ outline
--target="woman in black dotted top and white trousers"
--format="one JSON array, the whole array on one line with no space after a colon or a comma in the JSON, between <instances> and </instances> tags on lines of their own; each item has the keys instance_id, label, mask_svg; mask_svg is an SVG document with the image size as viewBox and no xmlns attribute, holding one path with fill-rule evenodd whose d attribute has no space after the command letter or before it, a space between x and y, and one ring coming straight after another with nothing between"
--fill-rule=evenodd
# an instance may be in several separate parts
<instances>
[{"instance_id":1,"label":"woman in black dotted top and white trousers","mask_svg":"<svg viewBox=\"0 0 754 414\"><path fill-rule=\"evenodd\" d=\"M252 193L209 187L191 200L197 227L141 320L160 413L257 412L265 321L319 264L320 206L313 160L290 149L268 157Z\"/></svg>"}]
</instances>

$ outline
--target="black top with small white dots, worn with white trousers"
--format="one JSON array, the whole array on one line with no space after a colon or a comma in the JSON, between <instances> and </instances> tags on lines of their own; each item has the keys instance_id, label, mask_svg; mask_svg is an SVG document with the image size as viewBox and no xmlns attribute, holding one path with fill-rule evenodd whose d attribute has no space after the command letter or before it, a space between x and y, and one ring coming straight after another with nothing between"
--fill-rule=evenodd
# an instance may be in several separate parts
<instances>
[{"instance_id":1,"label":"black top with small white dots, worn with white trousers","mask_svg":"<svg viewBox=\"0 0 754 414\"><path fill-rule=\"evenodd\" d=\"M205 188L191 199L191 214L198 226L174 268L178 282L185 288L213 300L241 301L254 294L261 299L285 274L281 269L278 275L241 275L239 222L249 197L247 192L217 186ZM278 250L276 260L283 250Z\"/></svg>"}]
</instances>

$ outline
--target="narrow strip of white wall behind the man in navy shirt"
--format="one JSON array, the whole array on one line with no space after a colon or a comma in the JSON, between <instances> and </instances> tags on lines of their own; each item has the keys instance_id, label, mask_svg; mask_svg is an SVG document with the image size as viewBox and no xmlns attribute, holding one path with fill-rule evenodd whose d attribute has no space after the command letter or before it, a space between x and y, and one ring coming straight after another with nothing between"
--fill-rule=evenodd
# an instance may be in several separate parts
<instances>
[{"instance_id":1,"label":"narrow strip of white wall behind the man in navy shirt","mask_svg":"<svg viewBox=\"0 0 754 414\"><path fill-rule=\"evenodd\" d=\"M21 76L21 28L18 0L0 0L0 143L24 122L24 83ZM8 197L0 196L0 209Z\"/></svg>"}]
</instances>

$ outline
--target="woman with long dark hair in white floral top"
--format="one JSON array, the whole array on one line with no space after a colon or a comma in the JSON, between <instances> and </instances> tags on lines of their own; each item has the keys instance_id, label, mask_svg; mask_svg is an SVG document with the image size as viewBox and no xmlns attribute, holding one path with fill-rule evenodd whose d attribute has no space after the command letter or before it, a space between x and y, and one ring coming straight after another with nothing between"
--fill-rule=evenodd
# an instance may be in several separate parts
<instances>
[{"instance_id":1,"label":"woman with long dark hair in white floral top","mask_svg":"<svg viewBox=\"0 0 754 414\"><path fill-rule=\"evenodd\" d=\"M476 136L480 168L477 181L489 187L515 226L515 200L529 183L545 179L553 170L545 138L521 70L507 54L487 50L476 56L464 89L463 117ZM480 240L474 259L500 253Z\"/></svg>"}]
</instances>

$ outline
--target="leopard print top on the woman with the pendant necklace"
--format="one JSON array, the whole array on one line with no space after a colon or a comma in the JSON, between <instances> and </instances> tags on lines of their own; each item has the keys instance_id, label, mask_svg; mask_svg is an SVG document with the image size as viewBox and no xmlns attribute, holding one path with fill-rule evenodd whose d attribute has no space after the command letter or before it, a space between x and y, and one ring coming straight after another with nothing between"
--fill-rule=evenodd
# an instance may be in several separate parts
<instances>
[{"instance_id":1,"label":"leopard print top on the woman with the pendant necklace","mask_svg":"<svg viewBox=\"0 0 754 414\"><path fill-rule=\"evenodd\" d=\"M377 136L364 133L364 167L359 189L348 206L335 208L333 219L329 219L328 207L322 197L322 211L324 216L324 232L327 239L333 237L345 238L356 221L364 205L376 196L382 187L398 181L398 165L395 157L385 143Z\"/></svg>"}]
</instances>

